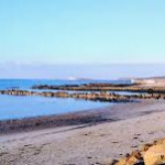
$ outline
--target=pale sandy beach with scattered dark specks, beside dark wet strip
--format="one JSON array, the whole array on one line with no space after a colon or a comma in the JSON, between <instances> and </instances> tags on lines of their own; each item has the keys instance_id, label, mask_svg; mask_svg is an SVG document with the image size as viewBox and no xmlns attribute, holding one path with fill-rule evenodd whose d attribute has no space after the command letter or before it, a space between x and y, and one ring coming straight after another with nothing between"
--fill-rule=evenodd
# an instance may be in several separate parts
<instances>
[{"instance_id":1,"label":"pale sandy beach with scattered dark specks, beside dark wet strip","mask_svg":"<svg viewBox=\"0 0 165 165\"><path fill-rule=\"evenodd\" d=\"M165 138L164 110L164 100L120 103L96 111L111 119L105 122L1 134L0 162L3 165L107 164L141 144Z\"/></svg>"}]
</instances>

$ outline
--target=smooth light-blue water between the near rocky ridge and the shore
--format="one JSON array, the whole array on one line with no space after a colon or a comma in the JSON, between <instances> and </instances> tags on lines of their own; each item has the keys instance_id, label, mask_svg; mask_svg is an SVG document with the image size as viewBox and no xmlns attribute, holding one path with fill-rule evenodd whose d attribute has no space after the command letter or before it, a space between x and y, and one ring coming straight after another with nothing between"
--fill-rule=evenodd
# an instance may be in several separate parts
<instances>
[{"instance_id":1,"label":"smooth light-blue water between the near rocky ridge and the shore","mask_svg":"<svg viewBox=\"0 0 165 165\"><path fill-rule=\"evenodd\" d=\"M0 96L0 120L59 114L109 105L113 103L63 98Z\"/></svg>"}]
</instances>

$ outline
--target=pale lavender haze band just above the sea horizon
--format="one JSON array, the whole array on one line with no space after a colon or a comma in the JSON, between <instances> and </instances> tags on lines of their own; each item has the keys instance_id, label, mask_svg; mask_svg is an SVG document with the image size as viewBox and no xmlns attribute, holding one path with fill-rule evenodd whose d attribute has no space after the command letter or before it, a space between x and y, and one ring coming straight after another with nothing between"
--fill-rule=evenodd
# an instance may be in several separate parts
<instances>
[{"instance_id":1,"label":"pale lavender haze band just above the sea horizon","mask_svg":"<svg viewBox=\"0 0 165 165\"><path fill-rule=\"evenodd\" d=\"M1 64L0 78L19 79L123 79L165 76L164 64L50 65Z\"/></svg>"}]
</instances>

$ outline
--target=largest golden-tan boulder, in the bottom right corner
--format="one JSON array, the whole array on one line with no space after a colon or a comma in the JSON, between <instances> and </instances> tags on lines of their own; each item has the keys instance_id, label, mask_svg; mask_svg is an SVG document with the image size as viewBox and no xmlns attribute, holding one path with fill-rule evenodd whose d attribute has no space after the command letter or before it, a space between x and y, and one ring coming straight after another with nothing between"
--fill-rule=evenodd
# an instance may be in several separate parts
<instances>
[{"instance_id":1,"label":"largest golden-tan boulder, in the bottom right corner","mask_svg":"<svg viewBox=\"0 0 165 165\"><path fill-rule=\"evenodd\" d=\"M144 154L145 165L165 164L165 144L151 146Z\"/></svg>"}]
</instances>

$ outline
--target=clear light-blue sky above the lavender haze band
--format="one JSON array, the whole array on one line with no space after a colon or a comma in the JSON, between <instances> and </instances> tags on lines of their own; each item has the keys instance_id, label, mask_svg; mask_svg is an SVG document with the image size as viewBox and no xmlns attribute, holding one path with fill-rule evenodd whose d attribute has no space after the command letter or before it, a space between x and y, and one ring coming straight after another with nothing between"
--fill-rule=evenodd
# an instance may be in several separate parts
<instances>
[{"instance_id":1,"label":"clear light-blue sky above the lavender haze band","mask_svg":"<svg viewBox=\"0 0 165 165\"><path fill-rule=\"evenodd\" d=\"M0 0L0 59L165 62L164 0Z\"/></svg>"}]
</instances>

